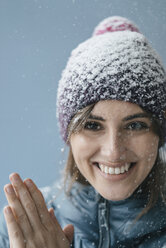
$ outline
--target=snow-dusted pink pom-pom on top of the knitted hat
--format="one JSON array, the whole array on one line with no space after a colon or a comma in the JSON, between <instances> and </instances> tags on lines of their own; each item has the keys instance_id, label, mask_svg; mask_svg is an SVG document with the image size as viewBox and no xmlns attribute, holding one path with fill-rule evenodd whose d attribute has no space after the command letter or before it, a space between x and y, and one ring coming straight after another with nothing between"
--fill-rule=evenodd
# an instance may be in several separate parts
<instances>
[{"instance_id":1,"label":"snow-dusted pink pom-pom on top of the knitted hat","mask_svg":"<svg viewBox=\"0 0 166 248\"><path fill-rule=\"evenodd\" d=\"M100 22L93 32L93 36L107 32L131 31L140 33L137 26L130 20L121 16L112 16Z\"/></svg>"}]
</instances>

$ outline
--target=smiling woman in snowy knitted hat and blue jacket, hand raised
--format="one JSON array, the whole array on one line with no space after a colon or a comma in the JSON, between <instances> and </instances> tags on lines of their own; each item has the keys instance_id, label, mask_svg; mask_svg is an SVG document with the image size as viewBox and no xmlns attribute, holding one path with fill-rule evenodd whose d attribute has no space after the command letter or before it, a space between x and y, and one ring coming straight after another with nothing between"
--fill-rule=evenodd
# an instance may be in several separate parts
<instances>
[{"instance_id":1,"label":"smiling woman in snowy knitted hat and blue jacket, hand raised","mask_svg":"<svg viewBox=\"0 0 166 248\"><path fill-rule=\"evenodd\" d=\"M158 55L129 20L105 19L59 82L65 187L42 190L48 210L31 179L13 173L5 186L10 247L66 248L73 227L75 248L165 247L165 109ZM9 247L0 230L0 247Z\"/></svg>"}]
</instances>

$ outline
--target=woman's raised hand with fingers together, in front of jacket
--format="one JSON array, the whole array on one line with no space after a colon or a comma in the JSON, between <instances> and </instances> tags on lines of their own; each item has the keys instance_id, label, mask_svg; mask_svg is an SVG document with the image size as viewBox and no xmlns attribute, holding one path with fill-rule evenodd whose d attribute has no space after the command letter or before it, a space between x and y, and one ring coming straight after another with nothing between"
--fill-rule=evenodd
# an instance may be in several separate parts
<instances>
[{"instance_id":1,"label":"woman's raised hand with fingers together, in front of jacket","mask_svg":"<svg viewBox=\"0 0 166 248\"><path fill-rule=\"evenodd\" d=\"M61 229L53 209L48 210L40 190L31 179L16 173L4 187L9 206L4 208L10 248L69 248L74 228Z\"/></svg>"}]
</instances>

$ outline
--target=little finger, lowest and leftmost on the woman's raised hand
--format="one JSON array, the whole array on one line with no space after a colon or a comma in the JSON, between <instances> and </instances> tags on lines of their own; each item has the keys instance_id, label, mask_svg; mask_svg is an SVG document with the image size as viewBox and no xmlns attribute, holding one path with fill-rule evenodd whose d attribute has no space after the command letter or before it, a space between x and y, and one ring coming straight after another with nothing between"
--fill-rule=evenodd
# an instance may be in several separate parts
<instances>
[{"instance_id":1,"label":"little finger, lowest and leftmost on the woman's raised hand","mask_svg":"<svg viewBox=\"0 0 166 248\"><path fill-rule=\"evenodd\" d=\"M12 243L12 247L13 248L25 247L23 234L9 206L6 206L4 208L4 216L7 224L10 243Z\"/></svg>"}]
</instances>

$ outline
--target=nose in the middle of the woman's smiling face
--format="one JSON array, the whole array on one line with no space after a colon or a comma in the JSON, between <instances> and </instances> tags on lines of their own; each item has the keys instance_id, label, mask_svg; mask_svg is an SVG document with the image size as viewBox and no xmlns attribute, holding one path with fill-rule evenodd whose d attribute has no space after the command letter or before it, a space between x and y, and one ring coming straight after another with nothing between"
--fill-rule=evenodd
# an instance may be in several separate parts
<instances>
[{"instance_id":1,"label":"nose in the middle of the woman's smiling face","mask_svg":"<svg viewBox=\"0 0 166 248\"><path fill-rule=\"evenodd\" d=\"M125 160L126 145L122 134L117 130L107 133L101 144L103 157L112 163Z\"/></svg>"}]
</instances>

